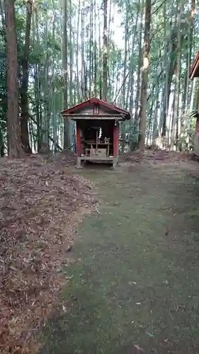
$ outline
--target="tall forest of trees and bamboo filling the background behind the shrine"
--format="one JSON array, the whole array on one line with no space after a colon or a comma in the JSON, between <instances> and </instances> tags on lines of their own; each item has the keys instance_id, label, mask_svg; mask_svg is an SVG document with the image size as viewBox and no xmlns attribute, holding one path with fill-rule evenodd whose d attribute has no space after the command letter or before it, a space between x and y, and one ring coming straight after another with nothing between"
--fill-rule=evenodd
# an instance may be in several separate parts
<instances>
[{"instance_id":1,"label":"tall forest of trees and bamboo filling the background behind the shrine","mask_svg":"<svg viewBox=\"0 0 199 354\"><path fill-rule=\"evenodd\" d=\"M75 142L60 112L90 97L130 110L120 149L190 149L195 0L1 1L1 156ZM6 74L7 68L7 74Z\"/></svg>"}]
</instances>

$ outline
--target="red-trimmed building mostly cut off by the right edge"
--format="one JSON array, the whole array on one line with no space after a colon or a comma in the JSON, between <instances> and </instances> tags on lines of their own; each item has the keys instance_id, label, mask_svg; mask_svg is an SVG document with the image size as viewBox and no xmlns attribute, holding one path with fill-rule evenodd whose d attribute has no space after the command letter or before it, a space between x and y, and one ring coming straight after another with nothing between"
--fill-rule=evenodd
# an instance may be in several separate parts
<instances>
[{"instance_id":1,"label":"red-trimmed building mostly cut off by the right edge","mask_svg":"<svg viewBox=\"0 0 199 354\"><path fill-rule=\"evenodd\" d=\"M199 52L198 55L195 57L193 65L191 66L189 78L191 80L199 77ZM196 110L191 114L191 117L196 118L195 123L195 138L193 142L193 156L199 156L199 92L196 104Z\"/></svg>"}]
</instances>

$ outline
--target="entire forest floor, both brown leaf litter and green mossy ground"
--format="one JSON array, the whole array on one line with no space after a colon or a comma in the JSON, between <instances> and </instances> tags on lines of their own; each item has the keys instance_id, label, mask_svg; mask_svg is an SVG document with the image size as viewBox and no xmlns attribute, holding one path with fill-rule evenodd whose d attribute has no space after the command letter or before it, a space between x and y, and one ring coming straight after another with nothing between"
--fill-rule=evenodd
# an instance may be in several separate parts
<instances>
[{"instance_id":1,"label":"entire forest floor, both brown leaf litter and green mossy ground","mask_svg":"<svg viewBox=\"0 0 199 354\"><path fill-rule=\"evenodd\" d=\"M137 152L118 171L1 160L2 354L35 353L35 336L42 354L199 353L199 168L187 159Z\"/></svg>"}]
</instances>

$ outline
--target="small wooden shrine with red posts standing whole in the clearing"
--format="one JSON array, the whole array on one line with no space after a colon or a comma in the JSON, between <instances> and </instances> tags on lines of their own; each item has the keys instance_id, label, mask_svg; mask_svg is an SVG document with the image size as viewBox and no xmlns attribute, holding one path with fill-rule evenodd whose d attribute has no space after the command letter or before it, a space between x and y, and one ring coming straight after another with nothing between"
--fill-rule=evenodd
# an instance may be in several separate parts
<instances>
[{"instance_id":1,"label":"small wooden shrine with red posts standing whole in the clearing","mask_svg":"<svg viewBox=\"0 0 199 354\"><path fill-rule=\"evenodd\" d=\"M64 119L76 121L76 167L81 161L109 161L115 167L119 155L119 122L129 120L127 110L98 98L62 111Z\"/></svg>"}]
</instances>

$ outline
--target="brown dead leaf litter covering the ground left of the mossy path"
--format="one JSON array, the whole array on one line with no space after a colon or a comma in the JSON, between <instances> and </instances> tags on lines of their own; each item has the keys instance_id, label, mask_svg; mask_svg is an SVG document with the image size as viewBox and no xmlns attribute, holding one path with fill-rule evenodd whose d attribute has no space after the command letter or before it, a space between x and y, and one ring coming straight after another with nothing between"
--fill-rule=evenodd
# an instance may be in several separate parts
<instances>
[{"instance_id":1,"label":"brown dead leaf litter covering the ground left of the mossy path","mask_svg":"<svg viewBox=\"0 0 199 354\"><path fill-rule=\"evenodd\" d=\"M72 154L0 160L0 352L35 353L34 334L68 281L76 223L98 203ZM64 307L65 309L65 307Z\"/></svg>"}]
</instances>

